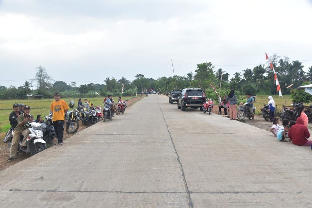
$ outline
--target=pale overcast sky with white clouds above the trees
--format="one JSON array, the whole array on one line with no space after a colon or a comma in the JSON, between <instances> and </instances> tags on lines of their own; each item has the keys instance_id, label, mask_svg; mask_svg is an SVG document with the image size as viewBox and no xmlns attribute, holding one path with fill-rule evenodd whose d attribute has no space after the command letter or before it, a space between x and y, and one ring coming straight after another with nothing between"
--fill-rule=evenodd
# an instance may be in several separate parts
<instances>
[{"instance_id":1,"label":"pale overcast sky with white clouds above the trees","mask_svg":"<svg viewBox=\"0 0 312 208\"><path fill-rule=\"evenodd\" d=\"M177 75L209 61L233 74L265 52L309 60L307 71L311 20L311 0L0 0L0 85L21 86L40 65L78 86L172 76L171 59Z\"/></svg>"}]
</instances>

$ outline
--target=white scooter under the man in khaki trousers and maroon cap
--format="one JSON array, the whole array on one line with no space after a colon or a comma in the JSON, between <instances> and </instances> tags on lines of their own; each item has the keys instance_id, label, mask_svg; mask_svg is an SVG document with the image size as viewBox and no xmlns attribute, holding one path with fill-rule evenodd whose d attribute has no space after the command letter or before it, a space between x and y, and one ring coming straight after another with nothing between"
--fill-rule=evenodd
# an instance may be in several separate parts
<instances>
[{"instance_id":1,"label":"white scooter under the man in khaki trousers and maroon cap","mask_svg":"<svg viewBox=\"0 0 312 208\"><path fill-rule=\"evenodd\" d=\"M30 131L30 134L27 137L27 148L20 149L23 138L24 138L24 136L21 136L19 139L19 145L18 145L19 151L22 151L28 154L37 154L45 150L47 147L46 147L45 140L42 139L43 132L41 129L41 124L36 123L36 122L28 122L25 126L28 126L29 127L28 129ZM14 131L12 132L12 135L14 136ZM12 139L8 143L9 147L11 146L11 142L12 142Z\"/></svg>"}]
</instances>

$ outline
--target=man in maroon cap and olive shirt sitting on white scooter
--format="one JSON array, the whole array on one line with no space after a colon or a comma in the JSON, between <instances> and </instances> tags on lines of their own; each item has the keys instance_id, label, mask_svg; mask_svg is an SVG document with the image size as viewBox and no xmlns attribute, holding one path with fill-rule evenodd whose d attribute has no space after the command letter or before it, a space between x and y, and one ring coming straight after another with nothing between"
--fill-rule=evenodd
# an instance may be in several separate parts
<instances>
[{"instance_id":1,"label":"man in maroon cap and olive shirt sitting on white scooter","mask_svg":"<svg viewBox=\"0 0 312 208\"><path fill-rule=\"evenodd\" d=\"M29 114L30 112L30 107L29 106L24 106L24 113L19 115L17 117L17 126L14 128L14 135L12 138L12 144L10 147L10 156L8 161L12 161L13 159L16 158L17 155L17 148L19 147L19 139L23 135L23 141L22 141L22 146L20 149L26 148L27 146L27 137L30 134L30 131L28 130L28 126L24 126L27 124L27 122L34 122L34 116Z\"/></svg>"}]
</instances>

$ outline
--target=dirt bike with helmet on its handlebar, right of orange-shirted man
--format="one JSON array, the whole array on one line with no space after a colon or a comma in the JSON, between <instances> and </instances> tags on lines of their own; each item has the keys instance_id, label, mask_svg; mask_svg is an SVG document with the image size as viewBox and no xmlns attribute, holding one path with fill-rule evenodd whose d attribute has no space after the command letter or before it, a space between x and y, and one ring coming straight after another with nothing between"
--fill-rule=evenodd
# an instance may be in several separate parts
<instances>
[{"instance_id":1,"label":"dirt bike with helmet on its handlebar, right of orange-shirted man","mask_svg":"<svg viewBox=\"0 0 312 208\"><path fill-rule=\"evenodd\" d=\"M69 102L68 106L71 108L71 111L67 111L66 113L67 114L66 132L69 134L73 134L77 132L79 128L80 121L79 111L77 111L77 109L74 109L75 102L72 100Z\"/></svg>"}]
</instances>

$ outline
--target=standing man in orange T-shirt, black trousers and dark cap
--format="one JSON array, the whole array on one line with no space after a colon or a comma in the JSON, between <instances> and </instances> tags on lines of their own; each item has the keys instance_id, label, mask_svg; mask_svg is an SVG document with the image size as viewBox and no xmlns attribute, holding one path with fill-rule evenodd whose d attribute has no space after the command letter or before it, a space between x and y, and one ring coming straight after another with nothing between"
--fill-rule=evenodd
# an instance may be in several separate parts
<instances>
[{"instance_id":1,"label":"standing man in orange T-shirt, black trousers and dark cap","mask_svg":"<svg viewBox=\"0 0 312 208\"><path fill-rule=\"evenodd\" d=\"M66 101L61 100L59 92L54 93L54 99L55 101L51 103L51 111L53 112L52 121L59 146L63 146L64 119L68 110L68 105Z\"/></svg>"}]
</instances>

